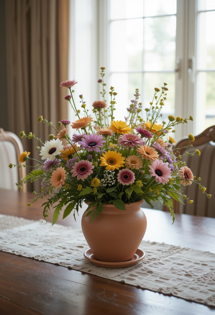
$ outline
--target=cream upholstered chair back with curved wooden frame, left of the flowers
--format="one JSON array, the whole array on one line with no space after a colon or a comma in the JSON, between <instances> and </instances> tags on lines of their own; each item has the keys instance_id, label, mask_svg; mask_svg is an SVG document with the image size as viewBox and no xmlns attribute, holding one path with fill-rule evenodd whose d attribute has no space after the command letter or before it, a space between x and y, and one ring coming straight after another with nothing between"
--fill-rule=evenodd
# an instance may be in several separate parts
<instances>
[{"instance_id":1,"label":"cream upholstered chair back with curved wooden frame, left of the flowers","mask_svg":"<svg viewBox=\"0 0 215 315\"><path fill-rule=\"evenodd\" d=\"M17 135L0 128L0 188L18 190L16 183L26 176L24 167L13 167L10 169L10 163L21 165L19 156L23 152L23 146ZM26 192L26 185L20 189L20 192Z\"/></svg>"}]
</instances>

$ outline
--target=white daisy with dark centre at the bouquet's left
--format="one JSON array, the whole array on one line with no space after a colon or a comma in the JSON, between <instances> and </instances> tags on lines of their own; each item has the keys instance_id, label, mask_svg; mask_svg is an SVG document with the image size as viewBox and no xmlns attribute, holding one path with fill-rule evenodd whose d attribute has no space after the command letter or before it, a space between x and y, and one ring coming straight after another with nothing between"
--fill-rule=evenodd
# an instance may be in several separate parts
<instances>
[{"instance_id":1,"label":"white daisy with dark centre at the bouquet's left","mask_svg":"<svg viewBox=\"0 0 215 315\"><path fill-rule=\"evenodd\" d=\"M53 139L47 141L44 146L41 147L40 155L42 155L41 160L46 160L47 158L50 161L55 159L55 156L61 153L63 149L63 144L60 139Z\"/></svg>"}]
</instances>

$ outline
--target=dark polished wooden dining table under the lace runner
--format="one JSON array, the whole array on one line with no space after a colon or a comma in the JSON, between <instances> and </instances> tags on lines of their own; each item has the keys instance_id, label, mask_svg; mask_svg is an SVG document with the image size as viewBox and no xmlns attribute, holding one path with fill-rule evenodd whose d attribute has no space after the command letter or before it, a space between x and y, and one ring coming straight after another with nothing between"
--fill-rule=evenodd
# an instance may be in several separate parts
<instances>
[{"instance_id":1,"label":"dark polished wooden dining table under the lace runner","mask_svg":"<svg viewBox=\"0 0 215 315\"><path fill-rule=\"evenodd\" d=\"M0 189L0 214L42 219L43 200L27 207L32 193ZM46 197L45 197L46 198ZM73 215L58 224L81 228ZM215 253L215 219L144 209L148 226L144 240ZM8 219L9 220L9 219ZM51 214L48 218L51 221ZM1 241L0 241L1 242ZM0 251L0 314L140 315L214 314L215 308L140 289L70 268Z\"/></svg>"}]
</instances>

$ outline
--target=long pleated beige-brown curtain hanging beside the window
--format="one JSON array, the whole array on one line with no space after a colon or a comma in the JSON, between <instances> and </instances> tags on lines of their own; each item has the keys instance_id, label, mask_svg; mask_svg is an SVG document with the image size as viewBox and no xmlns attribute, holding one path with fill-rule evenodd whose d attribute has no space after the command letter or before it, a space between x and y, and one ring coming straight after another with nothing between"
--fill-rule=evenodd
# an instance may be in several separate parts
<instances>
[{"instance_id":1,"label":"long pleated beige-brown curtain hanging beside the window","mask_svg":"<svg viewBox=\"0 0 215 315\"><path fill-rule=\"evenodd\" d=\"M68 79L68 12L69 0L6 0L9 128L17 135L32 131L44 142L56 132L37 118L67 119L59 84ZM37 140L22 143L39 159Z\"/></svg>"}]
</instances>

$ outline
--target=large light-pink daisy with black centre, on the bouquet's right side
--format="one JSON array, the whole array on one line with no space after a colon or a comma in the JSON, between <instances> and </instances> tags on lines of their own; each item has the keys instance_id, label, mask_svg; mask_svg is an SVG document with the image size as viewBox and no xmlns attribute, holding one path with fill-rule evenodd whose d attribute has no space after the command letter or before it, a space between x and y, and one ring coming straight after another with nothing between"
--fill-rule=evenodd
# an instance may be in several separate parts
<instances>
[{"instance_id":1,"label":"large light-pink daisy with black centre, on the bouquet's right side","mask_svg":"<svg viewBox=\"0 0 215 315\"><path fill-rule=\"evenodd\" d=\"M162 183L164 185L169 181L169 178L172 178L171 169L168 167L167 162L164 163L163 161L156 160L148 167L150 168L150 175L155 176L157 183Z\"/></svg>"}]
</instances>

